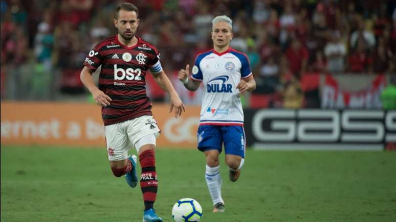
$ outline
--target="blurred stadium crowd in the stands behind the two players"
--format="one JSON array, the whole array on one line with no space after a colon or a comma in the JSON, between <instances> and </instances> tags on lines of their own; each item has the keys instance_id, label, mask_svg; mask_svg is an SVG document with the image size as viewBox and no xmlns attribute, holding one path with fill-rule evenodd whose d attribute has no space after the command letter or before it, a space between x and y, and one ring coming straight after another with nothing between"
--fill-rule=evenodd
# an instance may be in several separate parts
<instances>
[{"instance_id":1,"label":"blurred stadium crowd in the stands behind the two players","mask_svg":"<svg viewBox=\"0 0 396 222\"><path fill-rule=\"evenodd\" d=\"M139 7L138 36L186 104L200 104L177 71L212 47L212 19L228 15L231 46L250 59L257 89L251 107L320 107L319 74L396 73L396 2L391 0L2 0L2 98L59 100L86 95L82 62L99 40L116 34L121 2ZM356 73L356 74L355 74ZM153 101L164 92L147 78Z\"/></svg>"}]
</instances>

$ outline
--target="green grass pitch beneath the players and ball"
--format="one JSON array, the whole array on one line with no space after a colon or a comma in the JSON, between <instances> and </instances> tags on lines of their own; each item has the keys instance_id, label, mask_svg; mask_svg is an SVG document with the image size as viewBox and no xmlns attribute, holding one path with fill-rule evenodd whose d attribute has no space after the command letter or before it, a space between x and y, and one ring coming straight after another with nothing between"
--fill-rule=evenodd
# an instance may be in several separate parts
<instances>
[{"instance_id":1,"label":"green grass pitch beneath the players and ball","mask_svg":"<svg viewBox=\"0 0 396 222\"><path fill-rule=\"evenodd\" d=\"M180 198L202 221L396 221L396 152L247 151L236 183L221 155L225 213L212 213L203 154L158 149L156 210L171 221ZM140 172L140 169L139 169ZM1 149L1 220L141 221L140 188L115 178L104 149Z\"/></svg>"}]
</instances>

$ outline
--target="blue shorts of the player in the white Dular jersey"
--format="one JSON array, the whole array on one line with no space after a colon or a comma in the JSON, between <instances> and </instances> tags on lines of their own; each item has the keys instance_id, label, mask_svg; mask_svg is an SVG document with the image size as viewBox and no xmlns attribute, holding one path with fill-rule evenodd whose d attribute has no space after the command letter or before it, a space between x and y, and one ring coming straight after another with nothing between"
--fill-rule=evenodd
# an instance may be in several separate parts
<instances>
[{"instance_id":1,"label":"blue shorts of the player in the white Dular jersey","mask_svg":"<svg viewBox=\"0 0 396 222\"><path fill-rule=\"evenodd\" d=\"M208 150L218 150L222 153L240 156L245 158L245 131L241 126L214 126L202 125L197 133L198 150L204 152Z\"/></svg>"}]
</instances>

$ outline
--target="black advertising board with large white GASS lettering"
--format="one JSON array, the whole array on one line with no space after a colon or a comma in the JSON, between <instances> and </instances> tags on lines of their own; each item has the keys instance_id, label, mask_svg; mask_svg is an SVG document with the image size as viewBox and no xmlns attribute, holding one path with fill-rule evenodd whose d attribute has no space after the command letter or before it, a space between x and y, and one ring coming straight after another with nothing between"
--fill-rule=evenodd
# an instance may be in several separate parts
<instances>
[{"instance_id":1,"label":"black advertising board with large white GASS lettering","mask_svg":"<svg viewBox=\"0 0 396 222\"><path fill-rule=\"evenodd\" d=\"M396 143L396 111L248 109L245 133L258 150L381 151Z\"/></svg>"}]
</instances>

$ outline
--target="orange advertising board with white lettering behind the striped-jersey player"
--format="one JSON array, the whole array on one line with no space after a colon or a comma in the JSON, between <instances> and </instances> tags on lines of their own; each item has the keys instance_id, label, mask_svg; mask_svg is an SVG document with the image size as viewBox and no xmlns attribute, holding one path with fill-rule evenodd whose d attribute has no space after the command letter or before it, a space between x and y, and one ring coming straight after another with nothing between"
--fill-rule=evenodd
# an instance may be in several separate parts
<instances>
[{"instance_id":1,"label":"orange advertising board with white lettering behind the striped-jersey player","mask_svg":"<svg viewBox=\"0 0 396 222\"><path fill-rule=\"evenodd\" d=\"M159 147L196 147L200 107L187 106L182 116L168 104L154 104L153 116L162 134ZM83 103L2 102L1 142L5 145L105 147L100 107Z\"/></svg>"}]
</instances>

